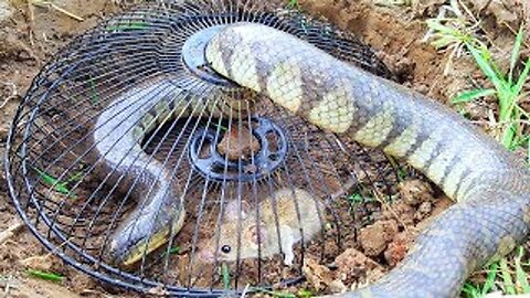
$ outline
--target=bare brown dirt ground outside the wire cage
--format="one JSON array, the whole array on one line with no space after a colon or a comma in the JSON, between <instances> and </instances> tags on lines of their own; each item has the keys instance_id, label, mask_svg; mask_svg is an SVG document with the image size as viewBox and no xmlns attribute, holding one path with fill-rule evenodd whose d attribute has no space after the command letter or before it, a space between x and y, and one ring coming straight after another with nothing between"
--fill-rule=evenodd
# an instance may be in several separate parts
<instances>
[{"instance_id":1,"label":"bare brown dirt ground outside the wire cage","mask_svg":"<svg viewBox=\"0 0 530 298\"><path fill-rule=\"evenodd\" d=\"M40 2L40 1L36 1ZM119 4L110 0L56 0L53 4L81 17L61 13L50 6L32 6L25 0L0 0L0 153L14 110L38 74L40 67L76 34L92 28L102 19L120 11ZM287 1L285 1L287 2ZM484 77L468 57L462 57L447 70L448 54L437 52L422 42L427 28L425 20L437 15L444 0L412 1L410 6L395 6L400 1L351 1L351 0L305 0L299 1L309 13L327 18L371 44L388 63L399 79L417 92L442 103L464 89L484 84ZM390 3L392 2L392 3ZM509 57L513 42L513 30L519 21L529 20L527 1L502 4L500 1L469 1L470 8L479 12L488 39L496 46L499 56ZM483 7L483 2L492 2ZM500 3L500 4L499 4ZM510 2L511 3L511 2ZM527 22L530 24L530 22ZM530 28L529 30L530 31ZM523 55L528 55L523 52ZM506 58L508 61L508 58ZM505 65L505 67L507 64ZM446 71L446 74L444 74ZM488 128L488 110L494 103L479 102L465 107L469 118ZM492 108L495 110L495 108ZM2 158L3 161L3 158ZM0 162L2 162L0 161ZM18 216L6 195L6 182L0 175L0 233L17 225ZM381 220L365 227L360 234L359 249L347 251L337 259L340 264L363 264L364 278L359 273L342 272L351 283L365 283L381 276L406 253L406 246L415 234L404 233L403 226L420 230L428 219L439 213L449 203L428 183L412 180L401 187L405 200L382 212ZM441 200L433 200L438 196ZM406 198L410 198L409 200ZM425 200L426 199L426 200ZM391 214L390 214L390 213ZM0 237L0 295L13 297L135 297L109 289L84 275L62 267L60 260L49 257L47 252L26 230L18 228L14 236ZM378 236L372 236L378 235ZM362 252L362 253L361 253ZM36 259L34 257L38 257ZM382 265L374 262L382 260ZM25 266L40 263L41 268L62 267L66 279L60 284L28 277ZM346 266L344 266L346 267ZM332 283L336 278L326 268L309 263L305 268L308 285L312 288L342 289L344 285ZM327 281L326 281L327 280ZM332 285L329 285L332 284ZM2 291L4 289L4 291Z\"/></svg>"}]
</instances>

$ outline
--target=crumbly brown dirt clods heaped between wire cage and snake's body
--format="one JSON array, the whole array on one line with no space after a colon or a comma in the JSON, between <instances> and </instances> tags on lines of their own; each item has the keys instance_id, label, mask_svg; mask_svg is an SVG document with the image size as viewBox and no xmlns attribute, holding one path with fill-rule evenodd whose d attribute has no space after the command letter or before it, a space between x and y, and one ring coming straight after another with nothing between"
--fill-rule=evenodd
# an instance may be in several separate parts
<instances>
[{"instance_id":1,"label":"crumbly brown dirt clods heaped between wire cage and snake's body","mask_svg":"<svg viewBox=\"0 0 530 298\"><path fill-rule=\"evenodd\" d=\"M362 227L351 248L332 264L308 259L303 270L307 286L318 292L343 292L378 280L405 257L416 235L432 221L431 215L453 204L420 179L402 182L400 196L394 203L384 203L378 220Z\"/></svg>"}]
</instances>

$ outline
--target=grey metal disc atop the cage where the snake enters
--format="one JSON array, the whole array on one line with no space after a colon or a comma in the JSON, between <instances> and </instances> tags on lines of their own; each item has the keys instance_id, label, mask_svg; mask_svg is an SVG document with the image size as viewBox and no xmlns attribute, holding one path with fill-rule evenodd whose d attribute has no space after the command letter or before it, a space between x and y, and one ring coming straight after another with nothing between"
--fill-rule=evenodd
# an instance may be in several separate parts
<instances>
[{"instance_id":1,"label":"grey metal disc atop the cage where the snake enters","mask_svg":"<svg viewBox=\"0 0 530 298\"><path fill-rule=\"evenodd\" d=\"M205 82L226 87L236 87L235 83L219 75L210 67L205 55L209 42L225 26L209 26L189 36L182 45L182 62L193 75Z\"/></svg>"}]
</instances>

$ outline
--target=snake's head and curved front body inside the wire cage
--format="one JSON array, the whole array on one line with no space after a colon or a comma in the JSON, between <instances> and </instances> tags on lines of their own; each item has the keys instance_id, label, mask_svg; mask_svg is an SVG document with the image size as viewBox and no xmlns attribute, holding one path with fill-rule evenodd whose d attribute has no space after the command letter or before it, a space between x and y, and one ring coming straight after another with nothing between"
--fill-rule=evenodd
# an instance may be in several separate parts
<instances>
[{"instance_id":1,"label":"snake's head and curved front body inside the wire cage","mask_svg":"<svg viewBox=\"0 0 530 298\"><path fill-rule=\"evenodd\" d=\"M235 99L226 100L232 98L231 92L197 96L180 88L170 76L147 82L114 98L97 117L88 142L95 149L95 155L89 155L94 161L91 163L103 166L96 167L96 174L126 194L120 204L128 198L137 203L110 236L108 260L120 267L139 262L167 243L186 219L174 170L144 151L141 142L146 136L176 118L203 114L244 116L250 107Z\"/></svg>"}]
</instances>

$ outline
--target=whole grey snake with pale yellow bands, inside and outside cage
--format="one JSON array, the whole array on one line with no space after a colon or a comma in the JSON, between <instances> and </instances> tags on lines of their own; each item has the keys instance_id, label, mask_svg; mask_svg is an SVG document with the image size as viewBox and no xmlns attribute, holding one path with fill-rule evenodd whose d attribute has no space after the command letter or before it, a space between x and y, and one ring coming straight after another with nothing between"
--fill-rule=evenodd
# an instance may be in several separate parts
<instances>
[{"instance_id":1,"label":"whole grey snake with pale yellow bands, inside and outside cage","mask_svg":"<svg viewBox=\"0 0 530 298\"><path fill-rule=\"evenodd\" d=\"M344 296L454 297L473 270L528 235L526 166L443 105L255 23L227 25L205 55L219 74L321 129L403 158L458 201L417 237L401 266ZM182 92L165 79L139 86L119 96L96 123L95 149L106 168L99 172L141 202L110 237L115 263L137 262L184 221L174 173L140 146L142 136L170 115L201 109L198 100L173 100Z\"/></svg>"}]
</instances>

